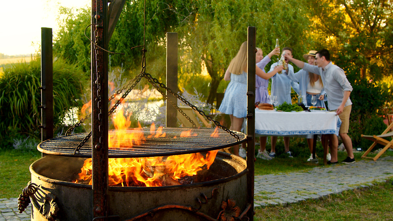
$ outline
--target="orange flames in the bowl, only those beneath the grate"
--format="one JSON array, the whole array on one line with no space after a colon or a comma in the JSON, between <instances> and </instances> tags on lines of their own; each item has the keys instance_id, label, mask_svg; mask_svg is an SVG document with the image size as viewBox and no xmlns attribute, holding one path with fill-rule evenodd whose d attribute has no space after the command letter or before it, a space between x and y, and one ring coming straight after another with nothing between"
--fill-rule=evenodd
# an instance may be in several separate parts
<instances>
[{"instance_id":1,"label":"orange flames in the bowl, only those beneath the grate","mask_svg":"<svg viewBox=\"0 0 393 221\"><path fill-rule=\"evenodd\" d=\"M110 158L109 186L171 186L188 184L214 162L217 151L168 157ZM92 159L86 159L75 183L92 184Z\"/></svg>"}]
</instances>

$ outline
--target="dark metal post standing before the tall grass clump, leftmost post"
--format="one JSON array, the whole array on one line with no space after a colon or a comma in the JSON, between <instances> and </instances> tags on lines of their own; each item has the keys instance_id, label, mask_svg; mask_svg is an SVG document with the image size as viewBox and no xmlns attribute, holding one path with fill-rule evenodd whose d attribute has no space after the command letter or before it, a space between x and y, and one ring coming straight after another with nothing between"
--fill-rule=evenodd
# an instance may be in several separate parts
<instances>
[{"instance_id":1,"label":"dark metal post standing before the tall grass clump, leftmost post","mask_svg":"<svg viewBox=\"0 0 393 221\"><path fill-rule=\"evenodd\" d=\"M52 29L41 28L41 141L53 138Z\"/></svg>"}]
</instances>

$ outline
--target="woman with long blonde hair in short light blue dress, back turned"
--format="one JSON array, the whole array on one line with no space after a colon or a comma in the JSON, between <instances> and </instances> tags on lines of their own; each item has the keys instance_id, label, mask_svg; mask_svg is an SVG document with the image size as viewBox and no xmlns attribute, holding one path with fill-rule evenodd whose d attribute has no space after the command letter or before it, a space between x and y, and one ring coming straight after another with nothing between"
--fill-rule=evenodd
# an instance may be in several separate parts
<instances>
[{"instance_id":1,"label":"woman with long blonde hair in short light blue dress, back turned","mask_svg":"<svg viewBox=\"0 0 393 221\"><path fill-rule=\"evenodd\" d=\"M264 73L255 66L255 73L263 79L269 79L283 66L278 66L274 71ZM230 130L241 131L244 117L247 115L247 42L243 42L237 55L231 60L225 72L224 80L230 80L224 93L219 111L230 115ZM239 145L233 146L233 153L239 156Z\"/></svg>"}]
</instances>

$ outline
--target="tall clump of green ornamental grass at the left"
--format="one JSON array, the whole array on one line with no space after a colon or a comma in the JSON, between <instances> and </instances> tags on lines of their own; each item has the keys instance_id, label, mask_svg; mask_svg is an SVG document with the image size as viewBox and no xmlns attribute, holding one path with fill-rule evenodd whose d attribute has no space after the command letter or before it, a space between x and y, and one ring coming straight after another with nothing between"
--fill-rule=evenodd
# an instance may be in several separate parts
<instances>
[{"instance_id":1,"label":"tall clump of green ornamental grass at the left","mask_svg":"<svg viewBox=\"0 0 393 221\"><path fill-rule=\"evenodd\" d=\"M18 134L38 137L40 117L40 60L13 64L0 78L0 142L9 147ZM53 63L53 121L55 129L70 108L79 107L83 72L64 59Z\"/></svg>"}]
</instances>

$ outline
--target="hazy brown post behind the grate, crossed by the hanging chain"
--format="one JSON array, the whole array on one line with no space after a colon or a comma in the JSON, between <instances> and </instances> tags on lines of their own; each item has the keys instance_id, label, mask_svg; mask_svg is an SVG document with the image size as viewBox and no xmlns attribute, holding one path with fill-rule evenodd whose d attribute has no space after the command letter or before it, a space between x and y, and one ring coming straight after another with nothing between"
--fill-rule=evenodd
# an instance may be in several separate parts
<instances>
[{"instance_id":1,"label":"hazy brown post behind the grate, crossed by the hanging chain","mask_svg":"<svg viewBox=\"0 0 393 221\"><path fill-rule=\"evenodd\" d=\"M167 33L167 87L177 93L177 33ZM176 127L177 110L169 105L169 100L177 104L177 98L167 91L166 126Z\"/></svg>"}]
</instances>

